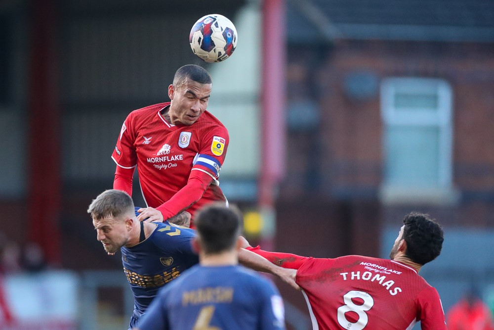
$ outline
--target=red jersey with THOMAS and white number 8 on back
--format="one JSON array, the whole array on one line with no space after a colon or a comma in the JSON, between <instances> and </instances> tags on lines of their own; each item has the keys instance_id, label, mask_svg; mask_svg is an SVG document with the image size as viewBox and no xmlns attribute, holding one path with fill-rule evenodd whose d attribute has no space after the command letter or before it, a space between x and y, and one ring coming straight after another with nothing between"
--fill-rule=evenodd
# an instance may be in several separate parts
<instances>
[{"instance_id":1,"label":"red jersey with THOMAS and white number 8 on back","mask_svg":"<svg viewBox=\"0 0 494 330\"><path fill-rule=\"evenodd\" d=\"M364 257L300 257L249 248L271 262L297 269L314 329L443 330L446 322L437 290L402 263Z\"/></svg>"}]
</instances>

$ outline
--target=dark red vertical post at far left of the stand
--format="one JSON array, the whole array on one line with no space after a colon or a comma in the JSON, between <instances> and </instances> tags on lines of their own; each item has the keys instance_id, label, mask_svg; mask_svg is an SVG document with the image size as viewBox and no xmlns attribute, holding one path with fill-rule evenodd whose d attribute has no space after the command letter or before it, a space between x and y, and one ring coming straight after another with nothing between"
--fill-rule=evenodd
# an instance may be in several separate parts
<instances>
[{"instance_id":1,"label":"dark red vertical post at far left of the stand","mask_svg":"<svg viewBox=\"0 0 494 330\"><path fill-rule=\"evenodd\" d=\"M60 105L55 0L31 0L28 94L28 239L50 264L60 262Z\"/></svg>"}]
</instances>

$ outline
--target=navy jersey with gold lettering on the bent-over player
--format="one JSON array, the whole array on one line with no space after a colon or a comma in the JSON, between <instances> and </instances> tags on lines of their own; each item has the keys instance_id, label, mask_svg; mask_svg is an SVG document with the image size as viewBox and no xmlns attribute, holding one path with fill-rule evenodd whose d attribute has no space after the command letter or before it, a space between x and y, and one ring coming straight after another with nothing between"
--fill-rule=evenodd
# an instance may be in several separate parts
<instances>
[{"instance_id":1,"label":"navy jersey with gold lettering on the bent-over player","mask_svg":"<svg viewBox=\"0 0 494 330\"><path fill-rule=\"evenodd\" d=\"M163 285L199 262L191 244L196 236L194 230L168 221L152 224L156 229L149 237L137 245L120 249L137 316L146 311Z\"/></svg>"}]
</instances>

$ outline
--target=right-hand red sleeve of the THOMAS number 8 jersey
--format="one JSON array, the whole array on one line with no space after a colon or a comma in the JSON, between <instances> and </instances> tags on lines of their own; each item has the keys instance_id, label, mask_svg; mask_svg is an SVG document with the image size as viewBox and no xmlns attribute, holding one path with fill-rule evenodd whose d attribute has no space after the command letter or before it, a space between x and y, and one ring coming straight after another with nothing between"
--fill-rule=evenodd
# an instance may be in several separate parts
<instances>
[{"instance_id":1,"label":"right-hand red sleeve of the THOMAS number 8 jersey","mask_svg":"<svg viewBox=\"0 0 494 330\"><path fill-rule=\"evenodd\" d=\"M432 286L423 289L417 296L420 306L420 325L422 330L446 330L443 305L439 293Z\"/></svg>"}]
</instances>

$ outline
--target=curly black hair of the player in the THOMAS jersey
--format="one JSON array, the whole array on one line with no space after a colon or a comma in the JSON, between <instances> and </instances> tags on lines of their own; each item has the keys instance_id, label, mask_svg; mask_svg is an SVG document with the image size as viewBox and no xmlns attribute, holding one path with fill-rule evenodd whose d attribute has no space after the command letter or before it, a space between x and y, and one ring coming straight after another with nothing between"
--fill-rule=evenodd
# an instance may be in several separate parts
<instances>
[{"instance_id":1,"label":"curly black hair of the player in the THOMAS jersey","mask_svg":"<svg viewBox=\"0 0 494 330\"><path fill-rule=\"evenodd\" d=\"M428 214L412 212L403 219L403 239L407 242L406 256L425 265L441 253L444 233L441 226Z\"/></svg>"}]
</instances>

